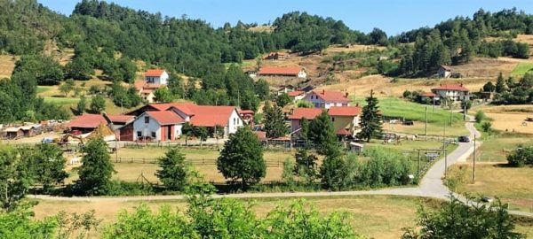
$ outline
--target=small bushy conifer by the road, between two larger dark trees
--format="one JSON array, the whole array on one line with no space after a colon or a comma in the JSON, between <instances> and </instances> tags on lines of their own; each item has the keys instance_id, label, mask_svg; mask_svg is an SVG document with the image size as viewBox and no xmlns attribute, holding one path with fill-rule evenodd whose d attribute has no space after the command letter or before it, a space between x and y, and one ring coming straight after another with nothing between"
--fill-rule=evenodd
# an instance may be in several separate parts
<instances>
[{"instance_id":1,"label":"small bushy conifer by the road, between two larger dark trees","mask_svg":"<svg viewBox=\"0 0 533 239\"><path fill-rule=\"evenodd\" d=\"M190 176L190 165L185 161L185 155L178 148L167 150L162 158L157 162L161 167L155 175L164 187L169 190L182 190L187 185L187 178Z\"/></svg>"}]
</instances>

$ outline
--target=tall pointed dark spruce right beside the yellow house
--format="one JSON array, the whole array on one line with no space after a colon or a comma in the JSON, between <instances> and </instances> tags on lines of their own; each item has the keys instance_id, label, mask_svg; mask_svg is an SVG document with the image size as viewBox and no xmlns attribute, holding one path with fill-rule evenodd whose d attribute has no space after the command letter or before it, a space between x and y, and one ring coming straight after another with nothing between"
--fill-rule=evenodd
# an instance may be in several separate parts
<instances>
[{"instance_id":1,"label":"tall pointed dark spruce right beside the yellow house","mask_svg":"<svg viewBox=\"0 0 533 239\"><path fill-rule=\"evenodd\" d=\"M367 105L362 107L361 127L357 135L359 138L370 142L373 136L382 134L381 122L378 116L379 102L374 97L374 90L370 90L370 96L366 98Z\"/></svg>"}]
</instances>

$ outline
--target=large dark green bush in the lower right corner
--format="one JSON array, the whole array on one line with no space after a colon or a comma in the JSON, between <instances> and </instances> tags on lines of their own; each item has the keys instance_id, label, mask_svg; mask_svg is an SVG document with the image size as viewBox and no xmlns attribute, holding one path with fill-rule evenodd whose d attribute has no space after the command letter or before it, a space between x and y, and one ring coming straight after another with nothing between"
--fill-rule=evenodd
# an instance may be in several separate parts
<instances>
[{"instance_id":1,"label":"large dark green bush in the lower right corner","mask_svg":"<svg viewBox=\"0 0 533 239\"><path fill-rule=\"evenodd\" d=\"M402 238L523 238L514 232L508 205L471 202L464 204L456 197L441 204L437 211L418 210L419 229L407 228Z\"/></svg>"}]
</instances>

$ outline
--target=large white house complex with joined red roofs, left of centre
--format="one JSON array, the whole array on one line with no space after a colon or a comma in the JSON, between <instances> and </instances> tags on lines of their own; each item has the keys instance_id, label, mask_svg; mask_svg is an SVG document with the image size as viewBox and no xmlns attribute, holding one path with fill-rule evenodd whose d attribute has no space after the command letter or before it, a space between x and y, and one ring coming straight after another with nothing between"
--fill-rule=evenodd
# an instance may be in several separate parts
<instances>
[{"instance_id":1,"label":"large white house complex with joined red roofs, left of centre","mask_svg":"<svg viewBox=\"0 0 533 239\"><path fill-rule=\"evenodd\" d=\"M155 113L154 113L155 112ZM158 113L161 112L161 113ZM224 136L234 134L243 127L244 120L234 106L197 105L193 103L147 104L129 115L137 116L132 126L121 130L121 138L132 127L131 140L173 141L181 135L181 127L189 122L195 127L207 127L213 135L217 127ZM128 139L129 140L129 139Z\"/></svg>"}]
</instances>

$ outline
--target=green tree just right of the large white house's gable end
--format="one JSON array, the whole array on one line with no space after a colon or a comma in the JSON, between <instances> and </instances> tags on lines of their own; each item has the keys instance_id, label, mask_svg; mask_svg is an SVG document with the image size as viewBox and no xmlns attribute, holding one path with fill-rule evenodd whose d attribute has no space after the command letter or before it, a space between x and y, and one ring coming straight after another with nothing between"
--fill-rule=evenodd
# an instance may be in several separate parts
<instances>
[{"instance_id":1,"label":"green tree just right of the large white house's gable end","mask_svg":"<svg viewBox=\"0 0 533 239\"><path fill-rule=\"evenodd\" d=\"M287 134L287 126L285 124L285 117L283 116L282 108L270 104L265 104L265 131L267 138L278 138Z\"/></svg>"}]
</instances>

